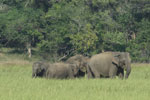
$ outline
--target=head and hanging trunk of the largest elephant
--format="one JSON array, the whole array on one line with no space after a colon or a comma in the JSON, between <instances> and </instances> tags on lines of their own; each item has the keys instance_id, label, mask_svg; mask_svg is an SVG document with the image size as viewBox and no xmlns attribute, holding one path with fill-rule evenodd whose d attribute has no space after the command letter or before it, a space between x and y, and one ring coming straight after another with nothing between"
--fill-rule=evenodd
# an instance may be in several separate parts
<instances>
[{"instance_id":1,"label":"head and hanging trunk of the largest elephant","mask_svg":"<svg viewBox=\"0 0 150 100\"><path fill-rule=\"evenodd\" d=\"M128 78L131 72L131 59L128 52L113 52L112 62L118 67L126 70L125 78Z\"/></svg>"}]
</instances>

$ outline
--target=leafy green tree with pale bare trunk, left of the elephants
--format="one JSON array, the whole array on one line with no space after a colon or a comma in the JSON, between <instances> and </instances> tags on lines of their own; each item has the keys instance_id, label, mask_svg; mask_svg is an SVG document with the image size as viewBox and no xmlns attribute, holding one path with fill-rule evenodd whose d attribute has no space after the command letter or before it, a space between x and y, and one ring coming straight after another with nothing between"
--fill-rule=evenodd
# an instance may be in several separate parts
<instances>
[{"instance_id":1,"label":"leafy green tree with pale bare trunk, left of the elephants","mask_svg":"<svg viewBox=\"0 0 150 100\"><path fill-rule=\"evenodd\" d=\"M29 57L31 57L31 46L35 39L42 35L39 32L39 10L35 11L32 8L18 10L13 8L4 13L4 16L5 18L3 15L1 17L5 21L2 26L5 26L3 36L7 40L6 45L16 48L27 48Z\"/></svg>"}]
</instances>

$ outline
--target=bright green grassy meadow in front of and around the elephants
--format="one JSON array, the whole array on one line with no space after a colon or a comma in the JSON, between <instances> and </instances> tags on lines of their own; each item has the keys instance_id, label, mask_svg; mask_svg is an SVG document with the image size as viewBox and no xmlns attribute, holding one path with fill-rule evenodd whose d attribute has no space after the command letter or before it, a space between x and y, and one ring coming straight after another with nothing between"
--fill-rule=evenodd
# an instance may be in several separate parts
<instances>
[{"instance_id":1,"label":"bright green grassy meadow in front of and around the elephants","mask_svg":"<svg viewBox=\"0 0 150 100\"><path fill-rule=\"evenodd\" d=\"M0 55L2 57L2 55ZM33 61L0 59L0 100L149 100L150 64L132 64L127 80L32 78Z\"/></svg>"}]
</instances>

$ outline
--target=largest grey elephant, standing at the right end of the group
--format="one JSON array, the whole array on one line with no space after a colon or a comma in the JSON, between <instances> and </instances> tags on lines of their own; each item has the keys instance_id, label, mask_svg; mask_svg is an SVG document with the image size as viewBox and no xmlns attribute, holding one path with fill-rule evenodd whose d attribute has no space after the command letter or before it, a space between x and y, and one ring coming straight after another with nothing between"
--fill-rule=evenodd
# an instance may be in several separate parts
<instances>
[{"instance_id":1,"label":"largest grey elephant, standing at the right end of the group","mask_svg":"<svg viewBox=\"0 0 150 100\"><path fill-rule=\"evenodd\" d=\"M129 77L131 72L131 59L128 52L104 52L91 57L88 66L88 77Z\"/></svg>"}]
</instances>

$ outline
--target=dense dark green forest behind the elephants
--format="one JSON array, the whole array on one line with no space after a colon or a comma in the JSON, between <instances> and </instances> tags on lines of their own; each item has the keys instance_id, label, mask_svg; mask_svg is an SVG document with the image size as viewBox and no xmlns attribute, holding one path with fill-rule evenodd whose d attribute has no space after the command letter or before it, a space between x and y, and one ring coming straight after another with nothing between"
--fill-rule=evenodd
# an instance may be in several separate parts
<instances>
[{"instance_id":1,"label":"dense dark green forest behind the elephants","mask_svg":"<svg viewBox=\"0 0 150 100\"><path fill-rule=\"evenodd\" d=\"M125 51L150 62L150 1L0 0L3 47L29 57Z\"/></svg>"}]
</instances>

